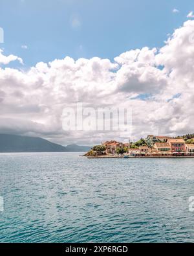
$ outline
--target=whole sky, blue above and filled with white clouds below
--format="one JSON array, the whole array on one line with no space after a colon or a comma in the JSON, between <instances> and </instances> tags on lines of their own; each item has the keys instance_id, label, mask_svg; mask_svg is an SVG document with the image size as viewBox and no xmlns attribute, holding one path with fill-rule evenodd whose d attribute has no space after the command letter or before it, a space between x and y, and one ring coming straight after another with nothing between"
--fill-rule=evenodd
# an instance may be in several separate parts
<instances>
[{"instance_id":1,"label":"whole sky, blue above and filled with white clouds below","mask_svg":"<svg viewBox=\"0 0 194 256\"><path fill-rule=\"evenodd\" d=\"M120 139L112 131L64 131L63 108L77 102L132 110L131 139L194 132L193 1L0 5L1 133L62 145Z\"/></svg>"}]
</instances>

